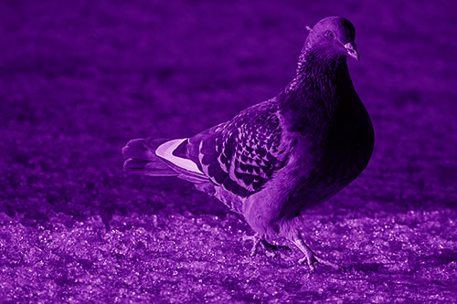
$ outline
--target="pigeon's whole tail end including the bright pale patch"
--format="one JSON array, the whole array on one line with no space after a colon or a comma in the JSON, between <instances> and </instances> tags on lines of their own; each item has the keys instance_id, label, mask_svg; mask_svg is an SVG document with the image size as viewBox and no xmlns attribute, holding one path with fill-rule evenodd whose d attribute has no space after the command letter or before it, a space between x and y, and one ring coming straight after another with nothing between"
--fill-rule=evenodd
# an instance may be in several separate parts
<instances>
[{"instance_id":1,"label":"pigeon's whole tail end including the bright pale patch","mask_svg":"<svg viewBox=\"0 0 457 304\"><path fill-rule=\"evenodd\" d=\"M122 148L123 170L149 176L176 176L192 183L207 182L195 162L176 152L187 139L135 139Z\"/></svg>"}]
</instances>

